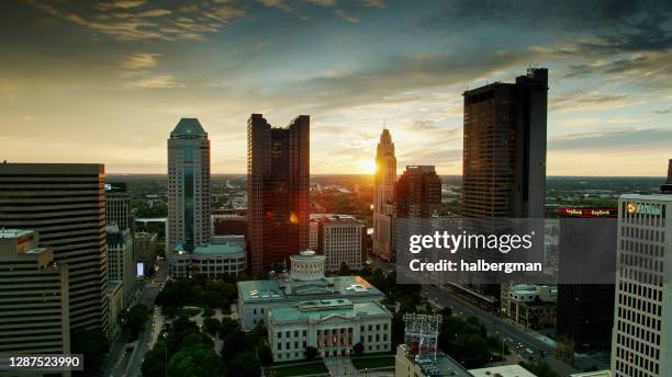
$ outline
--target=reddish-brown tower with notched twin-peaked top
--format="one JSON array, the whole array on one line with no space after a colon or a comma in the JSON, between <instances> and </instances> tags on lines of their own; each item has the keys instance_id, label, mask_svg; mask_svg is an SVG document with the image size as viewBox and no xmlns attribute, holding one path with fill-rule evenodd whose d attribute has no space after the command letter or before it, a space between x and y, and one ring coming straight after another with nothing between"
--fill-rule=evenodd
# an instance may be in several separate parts
<instances>
[{"instance_id":1,"label":"reddish-brown tower with notched twin-peaked top","mask_svg":"<svg viewBox=\"0 0 672 377\"><path fill-rule=\"evenodd\" d=\"M247 121L248 265L254 273L282 263L309 245L310 123L300 115L285 128L261 114Z\"/></svg>"}]
</instances>

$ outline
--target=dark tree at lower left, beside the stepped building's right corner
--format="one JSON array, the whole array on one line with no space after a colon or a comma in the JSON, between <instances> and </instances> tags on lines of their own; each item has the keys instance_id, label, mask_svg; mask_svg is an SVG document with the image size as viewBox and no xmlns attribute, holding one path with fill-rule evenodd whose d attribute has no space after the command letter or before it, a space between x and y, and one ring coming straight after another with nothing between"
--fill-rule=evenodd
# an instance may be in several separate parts
<instances>
[{"instance_id":1,"label":"dark tree at lower left, beside the stepped building's right corner","mask_svg":"<svg viewBox=\"0 0 672 377\"><path fill-rule=\"evenodd\" d=\"M72 333L71 352L83 354L83 370L75 372L74 375L98 375L109 349L108 336L100 330L82 330Z\"/></svg>"}]
</instances>

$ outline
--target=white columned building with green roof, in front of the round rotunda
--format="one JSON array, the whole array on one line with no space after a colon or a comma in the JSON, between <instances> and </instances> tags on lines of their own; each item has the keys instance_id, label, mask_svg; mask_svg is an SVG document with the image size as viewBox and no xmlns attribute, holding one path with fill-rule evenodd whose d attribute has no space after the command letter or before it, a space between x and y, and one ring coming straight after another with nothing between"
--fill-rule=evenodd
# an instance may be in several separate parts
<instances>
[{"instance_id":1,"label":"white columned building with green roof, in front of the round rotunda","mask_svg":"<svg viewBox=\"0 0 672 377\"><path fill-rule=\"evenodd\" d=\"M378 301L344 298L305 300L272 307L266 312L273 361L305 358L305 349L320 356L346 356L361 343L365 353L390 351L392 315Z\"/></svg>"}]
</instances>

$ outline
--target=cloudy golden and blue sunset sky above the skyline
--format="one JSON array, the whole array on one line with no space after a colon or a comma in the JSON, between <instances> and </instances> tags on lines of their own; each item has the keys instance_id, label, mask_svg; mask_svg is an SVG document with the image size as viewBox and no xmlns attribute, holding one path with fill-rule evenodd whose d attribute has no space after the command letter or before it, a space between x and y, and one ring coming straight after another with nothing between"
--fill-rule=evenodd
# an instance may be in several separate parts
<instances>
[{"instance_id":1,"label":"cloudy golden and blue sunset sky above the skyline","mask_svg":"<svg viewBox=\"0 0 672 377\"><path fill-rule=\"evenodd\" d=\"M0 21L10 162L165 173L198 117L213 173L243 173L249 114L309 114L312 173L370 172L384 123L400 168L461 174L461 93L530 66L549 68L549 175L672 158L665 1L3 1Z\"/></svg>"}]
</instances>

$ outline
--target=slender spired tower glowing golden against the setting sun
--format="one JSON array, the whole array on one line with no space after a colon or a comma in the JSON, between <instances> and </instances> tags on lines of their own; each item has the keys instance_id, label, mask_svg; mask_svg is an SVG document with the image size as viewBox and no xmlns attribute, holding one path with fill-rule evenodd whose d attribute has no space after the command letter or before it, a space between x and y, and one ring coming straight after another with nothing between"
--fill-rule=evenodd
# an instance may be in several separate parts
<instances>
[{"instance_id":1,"label":"slender spired tower glowing golden against the setting sun","mask_svg":"<svg viewBox=\"0 0 672 377\"><path fill-rule=\"evenodd\" d=\"M394 182L396 157L390 130L383 128L376 149L373 178L373 252L390 255L392 250L392 217L394 216Z\"/></svg>"}]
</instances>

